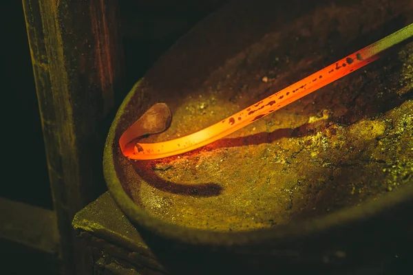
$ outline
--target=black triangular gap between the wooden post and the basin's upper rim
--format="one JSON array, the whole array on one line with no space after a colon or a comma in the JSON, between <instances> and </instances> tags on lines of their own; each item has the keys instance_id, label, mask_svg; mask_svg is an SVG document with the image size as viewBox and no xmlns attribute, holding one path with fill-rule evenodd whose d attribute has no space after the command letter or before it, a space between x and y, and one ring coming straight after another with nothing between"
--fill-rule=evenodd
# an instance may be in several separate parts
<instances>
[{"instance_id":1,"label":"black triangular gap between the wooden post and the basin's upper rim","mask_svg":"<svg viewBox=\"0 0 413 275\"><path fill-rule=\"evenodd\" d=\"M129 89L145 75L159 56L165 53L198 21L229 0L202 1L134 1L120 3L125 45L125 65Z\"/></svg>"}]
</instances>

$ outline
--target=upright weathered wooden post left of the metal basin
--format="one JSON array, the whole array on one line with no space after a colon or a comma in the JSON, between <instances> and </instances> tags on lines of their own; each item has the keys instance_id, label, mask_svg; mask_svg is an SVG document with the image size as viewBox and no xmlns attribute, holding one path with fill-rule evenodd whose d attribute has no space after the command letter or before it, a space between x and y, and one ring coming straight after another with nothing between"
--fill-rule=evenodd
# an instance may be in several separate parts
<instances>
[{"instance_id":1,"label":"upright weathered wooden post left of the metal basin","mask_svg":"<svg viewBox=\"0 0 413 275\"><path fill-rule=\"evenodd\" d=\"M23 9L63 270L81 274L74 263L81 266L85 257L72 219L105 188L104 123L125 92L118 1L23 0ZM30 154L30 139L19 145Z\"/></svg>"}]
</instances>

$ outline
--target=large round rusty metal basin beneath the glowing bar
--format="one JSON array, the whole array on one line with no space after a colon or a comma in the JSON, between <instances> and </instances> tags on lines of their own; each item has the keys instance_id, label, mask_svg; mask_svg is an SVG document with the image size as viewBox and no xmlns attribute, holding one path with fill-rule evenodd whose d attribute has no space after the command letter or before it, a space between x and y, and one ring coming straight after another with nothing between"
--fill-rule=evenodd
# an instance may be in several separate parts
<instances>
[{"instance_id":1,"label":"large round rusty metal basin beneath the glowing bar","mask_svg":"<svg viewBox=\"0 0 413 275\"><path fill-rule=\"evenodd\" d=\"M171 274L332 272L413 239L413 43L199 150L131 162L118 138L152 104L209 126L413 21L409 0L237 1L131 89L107 137L116 203Z\"/></svg>"}]
</instances>

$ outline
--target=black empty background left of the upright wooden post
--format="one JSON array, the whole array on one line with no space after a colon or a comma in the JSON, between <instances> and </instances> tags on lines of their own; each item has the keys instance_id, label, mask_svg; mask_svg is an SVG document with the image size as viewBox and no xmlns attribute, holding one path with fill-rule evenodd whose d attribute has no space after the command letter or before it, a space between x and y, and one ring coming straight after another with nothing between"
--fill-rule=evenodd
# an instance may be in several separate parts
<instances>
[{"instance_id":1,"label":"black empty background left of the upright wooden post","mask_svg":"<svg viewBox=\"0 0 413 275\"><path fill-rule=\"evenodd\" d=\"M41 118L30 58L28 36L21 1L2 1L1 61L3 70L1 117L3 140L3 183L0 197L52 209L49 176ZM22 159L19 146L30 144L30 155Z\"/></svg>"}]
</instances>

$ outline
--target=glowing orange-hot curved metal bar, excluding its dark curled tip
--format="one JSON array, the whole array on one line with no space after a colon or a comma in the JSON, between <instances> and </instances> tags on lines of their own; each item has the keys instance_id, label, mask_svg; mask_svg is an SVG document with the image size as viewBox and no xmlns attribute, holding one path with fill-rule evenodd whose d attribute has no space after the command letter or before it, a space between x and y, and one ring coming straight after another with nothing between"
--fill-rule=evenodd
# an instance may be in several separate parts
<instances>
[{"instance_id":1,"label":"glowing orange-hot curved metal bar, excluding its dark curled tip","mask_svg":"<svg viewBox=\"0 0 413 275\"><path fill-rule=\"evenodd\" d=\"M264 116L273 113L277 109L368 65L372 61L377 60L381 52L388 50L388 48L411 36L413 36L413 24L390 34L390 36L386 36L384 39L354 54L346 56L315 74L299 80L297 83L231 115L229 118L225 118L205 129L184 137L179 137L175 140L146 144L136 143L132 142L133 139L131 137L137 138L142 135L142 133L136 130L129 131L128 129L123 134L127 135L128 138L120 137L120 148L122 148L123 155L129 157L129 159L159 159L200 148L255 122L255 120L264 118Z\"/></svg>"}]
</instances>

